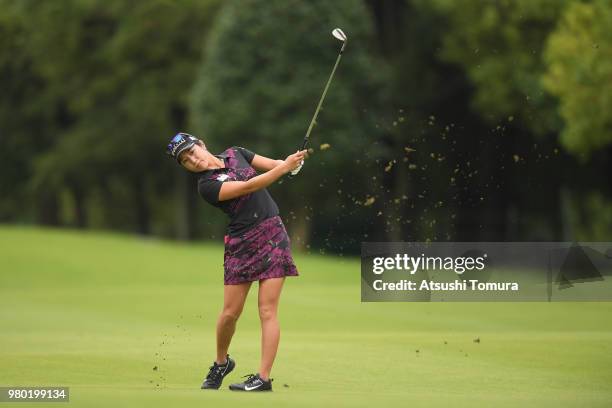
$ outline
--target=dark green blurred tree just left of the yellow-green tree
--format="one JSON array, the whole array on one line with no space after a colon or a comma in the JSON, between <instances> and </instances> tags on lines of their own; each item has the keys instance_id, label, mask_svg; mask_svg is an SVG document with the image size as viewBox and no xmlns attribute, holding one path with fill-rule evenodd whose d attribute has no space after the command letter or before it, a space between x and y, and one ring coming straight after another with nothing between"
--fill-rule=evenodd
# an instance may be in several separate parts
<instances>
[{"instance_id":1,"label":"dark green blurred tree just left of the yellow-green tree","mask_svg":"<svg viewBox=\"0 0 612 408\"><path fill-rule=\"evenodd\" d=\"M435 0L447 17L439 53L472 82L473 105L491 124L509 117L535 134L560 129L554 99L544 91L543 49L568 0Z\"/></svg>"}]
</instances>

